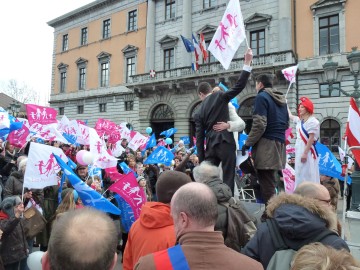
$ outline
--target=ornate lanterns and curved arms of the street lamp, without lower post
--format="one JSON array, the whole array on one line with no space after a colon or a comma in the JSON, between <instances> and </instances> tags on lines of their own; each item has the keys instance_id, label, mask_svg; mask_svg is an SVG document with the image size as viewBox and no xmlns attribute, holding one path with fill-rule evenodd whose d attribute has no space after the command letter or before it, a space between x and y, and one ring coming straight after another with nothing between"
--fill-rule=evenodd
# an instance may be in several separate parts
<instances>
[{"instance_id":1,"label":"ornate lanterns and curved arms of the street lamp, without lower post","mask_svg":"<svg viewBox=\"0 0 360 270\"><path fill-rule=\"evenodd\" d=\"M343 93L347 97L353 97L358 105L360 107L360 91L359 91L359 82L358 82L358 76L360 72L360 51L357 50L357 47L352 48L352 52L346 57L349 65L350 65L350 71L352 75L354 76L354 89L352 93L348 93L344 91L343 89L339 87L335 87L333 84L337 77L337 68L338 63L332 61L332 57L329 56L327 62L323 65L324 73L327 82L329 83L329 90L330 93L332 90L339 90L341 93Z\"/></svg>"}]
</instances>

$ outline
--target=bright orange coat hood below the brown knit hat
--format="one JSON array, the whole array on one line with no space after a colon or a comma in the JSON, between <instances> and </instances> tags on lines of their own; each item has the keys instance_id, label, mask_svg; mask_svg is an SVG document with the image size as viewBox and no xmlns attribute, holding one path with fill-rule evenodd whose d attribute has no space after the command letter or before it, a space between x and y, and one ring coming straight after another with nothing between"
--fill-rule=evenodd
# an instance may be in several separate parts
<instances>
[{"instance_id":1,"label":"bright orange coat hood below the brown knit hat","mask_svg":"<svg viewBox=\"0 0 360 270\"><path fill-rule=\"evenodd\" d=\"M146 228L162 228L174 225L170 205L161 202L147 202L141 208L140 223Z\"/></svg>"}]
</instances>

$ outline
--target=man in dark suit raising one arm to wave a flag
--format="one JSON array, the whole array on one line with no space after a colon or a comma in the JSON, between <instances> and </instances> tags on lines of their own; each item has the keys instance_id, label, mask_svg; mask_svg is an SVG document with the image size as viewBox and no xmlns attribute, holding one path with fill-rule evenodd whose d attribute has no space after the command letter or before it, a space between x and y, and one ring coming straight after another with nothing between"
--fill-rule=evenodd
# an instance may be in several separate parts
<instances>
[{"instance_id":1,"label":"man in dark suit raising one arm to wave a flag","mask_svg":"<svg viewBox=\"0 0 360 270\"><path fill-rule=\"evenodd\" d=\"M246 86L250 72L252 50L248 49L244 58L244 67L234 88L227 92L218 91L212 94L212 87L207 82L199 84L197 92L202 104L195 114L196 147L199 162L210 161L215 166L222 163L223 181L234 195L234 178L236 166L236 144L232 132L215 131L213 126L218 122L229 121L228 103ZM206 151L204 140L206 138Z\"/></svg>"}]
</instances>

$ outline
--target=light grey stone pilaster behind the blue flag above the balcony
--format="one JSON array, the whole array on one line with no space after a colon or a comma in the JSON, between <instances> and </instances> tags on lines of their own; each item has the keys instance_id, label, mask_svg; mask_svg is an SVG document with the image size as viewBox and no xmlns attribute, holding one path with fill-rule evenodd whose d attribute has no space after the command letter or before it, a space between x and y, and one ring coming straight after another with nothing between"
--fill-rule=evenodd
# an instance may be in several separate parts
<instances>
[{"instance_id":1,"label":"light grey stone pilaster behind the blue flag above the balcony","mask_svg":"<svg viewBox=\"0 0 360 270\"><path fill-rule=\"evenodd\" d=\"M191 23L191 0L183 0L183 14L182 14L182 31L181 34L192 41L192 23ZM191 66L191 57L192 54L188 53L185 49L182 40L179 40L179 47L182 59L182 66Z\"/></svg>"}]
</instances>

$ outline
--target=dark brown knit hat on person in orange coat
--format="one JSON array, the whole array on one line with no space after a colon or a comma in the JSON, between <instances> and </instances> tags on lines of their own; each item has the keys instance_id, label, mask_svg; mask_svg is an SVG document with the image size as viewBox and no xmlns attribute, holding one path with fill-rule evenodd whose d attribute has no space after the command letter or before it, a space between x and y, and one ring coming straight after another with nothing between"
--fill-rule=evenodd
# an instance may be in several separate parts
<instances>
[{"instance_id":1,"label":"dark brown knit hat on person in orange coat","mask_svg":"<svg viewBox=\"0 0 360 270\"><path fill-rule=\"evenodd\" d=\"M156 195L159 202L170 203L174 193L190 182L191 178L183 172L164 171L156 182Z\"/></svg>"}]
</instances>

